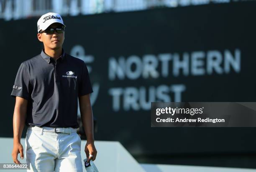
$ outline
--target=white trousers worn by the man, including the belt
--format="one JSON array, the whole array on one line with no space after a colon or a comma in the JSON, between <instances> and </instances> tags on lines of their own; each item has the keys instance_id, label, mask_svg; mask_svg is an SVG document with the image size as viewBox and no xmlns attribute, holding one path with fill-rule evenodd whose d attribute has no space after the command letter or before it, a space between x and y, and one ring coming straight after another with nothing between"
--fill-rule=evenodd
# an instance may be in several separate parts
<instances>
[{"instance_id":1,"label":"white trousers worn by the man, including the belt","mask_svg":"<svg viewBox=\"0 0 256 172\"><path fill-rule=\"evenodd\" d=\"M82 172L81 139L73 128L29 127L28 172Z\"/></svg>"}]
</instances>

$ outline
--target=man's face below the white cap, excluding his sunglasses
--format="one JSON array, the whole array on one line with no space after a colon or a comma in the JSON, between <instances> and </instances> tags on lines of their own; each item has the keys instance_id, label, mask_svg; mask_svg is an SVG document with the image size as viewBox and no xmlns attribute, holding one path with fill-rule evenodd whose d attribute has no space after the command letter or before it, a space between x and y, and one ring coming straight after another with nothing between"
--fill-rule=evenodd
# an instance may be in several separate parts
<instances>
[{"instance_id":1,"label":"man's face below the white cap, excluding his sunglasses","mask_svg":"<svg viewBox=\"0 0 256 172\"><path fill-rule=\"evenodd\" d=\"M62 27L62 25L60 23L53 23L47 29L49 29L49 28L61 28L61 27ZM63 44L64 39L65 39L65 34L64 34L64 32L63 33L57 33L56 30L54 30L53 34L38 33L37 37L38 37L39 41L44 43L45 48L49 48L51 50L58 50L59 48L62 48L62 44Z\"/></svg>"}]
</instances>

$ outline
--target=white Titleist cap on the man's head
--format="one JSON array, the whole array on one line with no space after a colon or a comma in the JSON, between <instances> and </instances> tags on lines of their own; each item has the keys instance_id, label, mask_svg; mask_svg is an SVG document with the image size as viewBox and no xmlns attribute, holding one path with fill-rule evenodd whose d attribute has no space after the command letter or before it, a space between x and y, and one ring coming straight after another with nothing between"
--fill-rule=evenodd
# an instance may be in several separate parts
<instances>
[{"instance_id":1,"label":"white Titleist cap on the man's head","mask_svg":"<svg viewBox=\"0 0 256 172\"><path fill-rule=\"evenodd\" d=\"M37 21L37 32L39 33L41 30L46 30L47 27L49 27L49 25L55 22L58 22L64 25L63 20L58 13L48 12L42 15Z\"/></svg>"}]
</instances>

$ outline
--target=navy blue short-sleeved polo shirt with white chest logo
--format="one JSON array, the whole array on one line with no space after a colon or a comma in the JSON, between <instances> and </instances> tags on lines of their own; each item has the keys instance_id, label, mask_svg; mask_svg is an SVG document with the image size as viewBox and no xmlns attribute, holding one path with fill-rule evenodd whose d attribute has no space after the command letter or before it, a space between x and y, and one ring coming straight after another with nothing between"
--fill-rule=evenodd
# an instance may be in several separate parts
<instances>
[{"instance_id":1,"label":"navy blue short-sleeved polo shirt with white chest logo","mask_svg":"<svg viewBox=\"0 0 256 172\"><path fill-rule=\"evenodd\" d=\"M28 100L28 126L78 128L77 98L92 92L84 61L62 49L57 60L42 50L40 55L22 62L11 96Z\"/></svg>"}]
</instances>

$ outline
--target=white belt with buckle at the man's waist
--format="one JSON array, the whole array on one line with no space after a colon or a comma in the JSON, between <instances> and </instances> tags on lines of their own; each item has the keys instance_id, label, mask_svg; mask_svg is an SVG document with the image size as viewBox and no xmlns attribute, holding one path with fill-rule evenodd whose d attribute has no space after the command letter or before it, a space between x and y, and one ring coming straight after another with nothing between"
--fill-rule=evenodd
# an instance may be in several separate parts
<instances>
[{"instance_id":1,"label":"white belt with buckle at the man's waist","mask_svg":"<svg viewBox=\"0 0 256 172\"><path fill-rule=\"evenodd\" d=\"M59 127L28 127L28 130L36 130L41 132L55 132L55 133L67 133L77 132L77 129L68 127L68 128L59 128Z\"/></svg>"}]
</instances>

